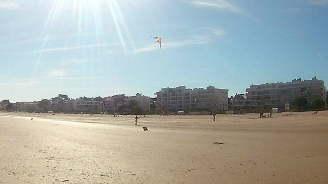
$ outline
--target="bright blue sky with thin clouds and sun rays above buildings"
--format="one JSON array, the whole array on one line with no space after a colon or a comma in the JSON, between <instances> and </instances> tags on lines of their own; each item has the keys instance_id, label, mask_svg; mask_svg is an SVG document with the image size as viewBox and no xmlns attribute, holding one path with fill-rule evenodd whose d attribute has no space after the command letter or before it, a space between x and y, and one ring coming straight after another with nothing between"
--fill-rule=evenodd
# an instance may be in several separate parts
<instances>
[{"instance_id":1,"label":"bright blue sky with thin clouds and sun rays above buildings","mask_svg":"<svg viewBox=\"0 0 328 184\"><path fill-rule=\"evenodd\" d=\"M327 61L328 0L0 0L0 100L10 102L326 85Z\"/></svg>"}]
</instances>

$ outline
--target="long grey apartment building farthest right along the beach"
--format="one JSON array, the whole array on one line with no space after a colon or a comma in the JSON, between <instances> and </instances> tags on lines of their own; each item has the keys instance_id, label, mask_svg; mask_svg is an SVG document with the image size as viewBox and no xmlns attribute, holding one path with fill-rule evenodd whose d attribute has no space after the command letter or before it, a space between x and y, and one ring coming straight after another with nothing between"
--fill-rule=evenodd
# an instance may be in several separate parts
<instances>
[{"instance_id":1,"label":"long grey apartment building farthest right along the beach","mask_svg":"<svg viewBox=\"0 0 328 184\"><path fill-rule=\"evenodd\" d=\"M322 80L294 79L292 82L277 82L251 85L246 89L246 106L270 108L292 104L296 97L304 97L311 104L315 99L325 100L325 87Z\"/></svg>"}]
</instances>

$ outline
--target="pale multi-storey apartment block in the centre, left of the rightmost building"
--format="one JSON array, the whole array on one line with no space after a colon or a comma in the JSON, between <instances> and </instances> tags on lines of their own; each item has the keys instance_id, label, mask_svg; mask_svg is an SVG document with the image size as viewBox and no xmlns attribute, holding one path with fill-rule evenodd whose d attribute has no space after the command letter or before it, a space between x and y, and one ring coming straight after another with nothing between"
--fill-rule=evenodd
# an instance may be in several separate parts
<instances>
[{"instance_id":1,"label":"pale multi-storey apartment block in the centre, left of the rightmost building","mask_svg":"<svg viewBox=\"0 0 328 184\"><path fill-rule=\"evenodd\" d=\"M187 89L186 86L162 88L155 93L160 111L228 110L228 89L214 86Z\"/></svg>"}]
</instances>

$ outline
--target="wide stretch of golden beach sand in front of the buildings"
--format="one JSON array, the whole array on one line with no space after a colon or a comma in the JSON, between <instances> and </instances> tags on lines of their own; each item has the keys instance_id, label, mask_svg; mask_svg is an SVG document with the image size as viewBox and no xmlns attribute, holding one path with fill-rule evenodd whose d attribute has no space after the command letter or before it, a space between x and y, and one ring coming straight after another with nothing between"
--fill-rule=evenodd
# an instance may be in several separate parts
<instances>
[{"instance_id":1,"label":"wide stretch of golden beach sand in front of the buildings","mask_svg":"<svg viewBox=\"0 0 328 184\"><path fill-rule=\"evenodd\" d=\"M328 182L328 111L138 125L134 116L0 113L0 183Z\"/></svg>"}]
</instances>

